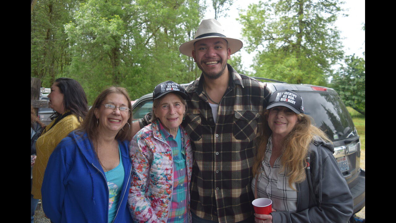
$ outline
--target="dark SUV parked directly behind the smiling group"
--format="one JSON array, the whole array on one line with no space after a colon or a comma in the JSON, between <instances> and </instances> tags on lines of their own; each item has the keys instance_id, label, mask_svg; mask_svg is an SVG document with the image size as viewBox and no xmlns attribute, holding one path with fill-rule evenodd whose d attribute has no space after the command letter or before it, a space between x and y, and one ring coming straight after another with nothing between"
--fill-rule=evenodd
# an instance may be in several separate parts
<instances>
[{"instance_id":1,"label":"dark SUV parked directly behind the smiling group","mask_svg":"<svg viewBox=\"0 0 396 223\"><path fill-rule=\"evenodd\" d=\"M268 89L271 92L288 89L300 94L304 101L304 113L312 116L314 125L333 141L334 157L352 193L353 213L357 213L365 206L366 177L365 171L360 169L359 135L340 96L333 88L276 82L267 82ZM141 119L151 111L152 93L145 94L133 104L133 119Z\"/></svg>"}]
</instances>

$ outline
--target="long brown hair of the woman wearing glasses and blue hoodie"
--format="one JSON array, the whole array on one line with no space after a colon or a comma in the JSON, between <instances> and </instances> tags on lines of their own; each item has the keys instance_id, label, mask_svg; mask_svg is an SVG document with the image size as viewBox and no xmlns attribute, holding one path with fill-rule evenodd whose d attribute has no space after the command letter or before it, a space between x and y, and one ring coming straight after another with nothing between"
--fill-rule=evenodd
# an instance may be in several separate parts
<instances>
[{"instance_id":1,"label":"long brown hair of the woman wearing glasses and blue hoodie","mask_svg":"<svg viewBox=\"0 0 396 223\"><path fill-rule=\"evenodd\" d=\"M129 119L127 123L125 123L123 129L126 131L123 131L122 129L118 131L116 135L116 139L118 140L131 140L132 139L132 131L131 131L131 126L132 126L132 105L131 105L131 99L129 98L128 95L128 90L123 87L109 87L103 92L97 96L95 102L93 102L92 108L89 110L88 115L84 119L84 121L81 123L81 126L77 129L78 132L86 132L88 135L88 138L91 141L96 141L97 136L98 136L98 127L97 127L97 119L95 116L95 108L98 108L101 106L102 102L106 99L106 97L111 94L111 93L116 93L116 94L122 94L126 97L128 100L128 108L129 108ZM129 124L129 125L128 125Z\"/></svg>"}]
</instances>

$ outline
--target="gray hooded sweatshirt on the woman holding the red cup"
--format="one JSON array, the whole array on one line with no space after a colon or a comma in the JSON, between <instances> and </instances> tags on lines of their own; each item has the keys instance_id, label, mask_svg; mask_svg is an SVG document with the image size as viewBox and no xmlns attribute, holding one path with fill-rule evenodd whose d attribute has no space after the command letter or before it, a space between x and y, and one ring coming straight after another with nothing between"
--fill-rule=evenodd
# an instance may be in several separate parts
<instances>
[{"instance_id":1,"label":"gray hooded sweatshirt on the woman holding the red cup","mask_svg":"<svg viewBox=\"0 0 396 223\"><path fill-rule=\"evenodd\" d=\"M317 138L309 151L312 188L309 176L297 183L297 211L272 212L272 222L346 223L352 216L353 198L333 156L333 145Z\"/></svg>"}]
</instances>

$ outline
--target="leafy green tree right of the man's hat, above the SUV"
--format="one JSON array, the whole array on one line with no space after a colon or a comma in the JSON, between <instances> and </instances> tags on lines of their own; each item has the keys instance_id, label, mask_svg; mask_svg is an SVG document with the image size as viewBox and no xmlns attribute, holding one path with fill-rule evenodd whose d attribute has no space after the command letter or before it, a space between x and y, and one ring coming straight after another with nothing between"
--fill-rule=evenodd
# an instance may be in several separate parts
<instances>
[{"instance_id":1,"label":"leafy green tree right of the man's hat, above the SUV","mask_svg":"<svg viewBox=\"0 0 396 223\"><path fill-rule=\"evenodd\" d=\"M289 83L326 85L343 58L339 0L268 0L251 4L238 19L247 52L256 51L256 76Z\"/></svg>"}]
</instances>

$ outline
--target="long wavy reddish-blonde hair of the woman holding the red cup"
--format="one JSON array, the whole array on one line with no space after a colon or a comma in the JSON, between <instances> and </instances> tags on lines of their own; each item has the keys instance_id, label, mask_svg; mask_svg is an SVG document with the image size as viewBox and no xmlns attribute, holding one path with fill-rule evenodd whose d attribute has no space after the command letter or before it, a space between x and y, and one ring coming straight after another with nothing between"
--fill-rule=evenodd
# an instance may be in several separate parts
<instances>
[{"instance_id":1,"label":"long wavy reddish-blonde hair of the woman holding the red cup","mask_svg":"<svg viewBox=\"0 0 396 223\"><path fill-rule=\"evenodd\" d=\"M268 126L269 110L263 112L263 129L257 148L257 156L253 164L253 175L257 176L260 173L261 163L264 158L265 150L268 144L268 138L272 131ZM301 183L305 180L305 167L307 163L305 158L308 155L309 144L314 141L315 136L321 137L326 142L331 140L326 134L312 125L312 117L303 113L297 115L297 123L293 130L287 135L282 143L282 157L280 159L283 167L286 169L289 176L289 186L293 188L292 183ZM293 188L295 190L295 188Z\"/></svg>"}]
</instances>

